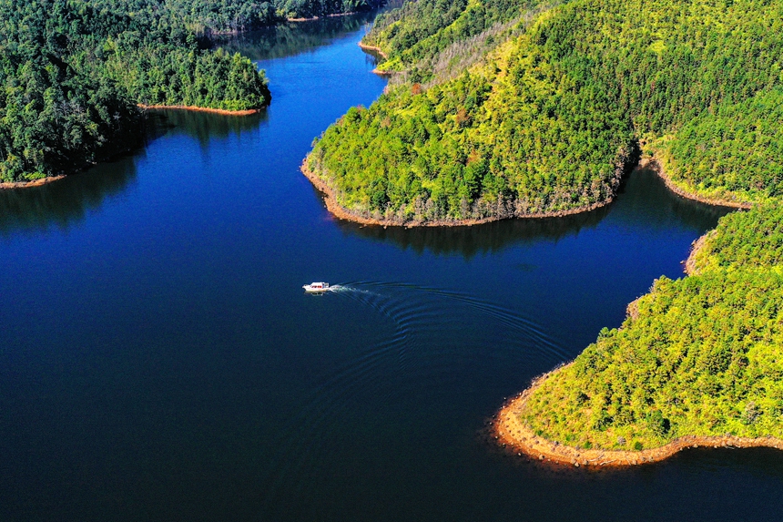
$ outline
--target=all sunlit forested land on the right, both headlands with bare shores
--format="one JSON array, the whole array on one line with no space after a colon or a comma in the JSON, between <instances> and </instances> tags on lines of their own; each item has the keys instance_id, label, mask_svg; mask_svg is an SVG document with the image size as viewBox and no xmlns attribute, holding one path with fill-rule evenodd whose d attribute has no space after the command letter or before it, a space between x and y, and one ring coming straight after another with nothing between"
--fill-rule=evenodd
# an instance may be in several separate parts
<instances>
[{"instance_id":1,"label":"all sunlit forested land on the right, both headlands with bare shores","mask_svg":"<svg viewBox=\"0 0 783 522\"><path fill-rule=\"evenodd\" d=\"M592 208L640 158L680 194L751 209L506 404L495 434L515 453L608 466L783 448L781 29L781 0L420 0L365 38L388 92L303 166L351 219Z\"/></svg>"}]
</instances>

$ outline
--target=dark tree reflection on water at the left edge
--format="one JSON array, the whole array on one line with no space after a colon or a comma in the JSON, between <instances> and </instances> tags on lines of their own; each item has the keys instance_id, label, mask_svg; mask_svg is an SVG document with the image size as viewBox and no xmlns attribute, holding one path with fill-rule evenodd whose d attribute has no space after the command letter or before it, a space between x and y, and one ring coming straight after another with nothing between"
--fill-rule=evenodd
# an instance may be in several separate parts
<instances>
[{"instance_id":1,"label":"dark tree reflection on water at the left edge","mask_svg":"<svg viewBox=\"0 0 783 522\"><path fill-rule=\"evenodd\" d=\"M120 158L40 187L0 190L0 235L66 229L84 220L88 210L133 183L137 159Z\"/></svg>"}]
</instances>

